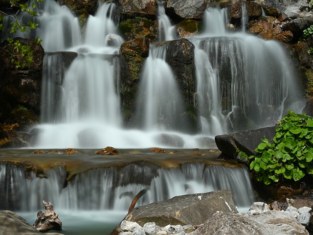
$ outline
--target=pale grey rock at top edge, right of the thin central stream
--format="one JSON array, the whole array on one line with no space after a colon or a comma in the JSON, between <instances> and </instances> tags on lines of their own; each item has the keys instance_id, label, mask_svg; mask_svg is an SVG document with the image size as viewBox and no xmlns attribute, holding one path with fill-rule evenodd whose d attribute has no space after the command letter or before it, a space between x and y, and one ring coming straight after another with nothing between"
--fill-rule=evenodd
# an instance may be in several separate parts
<instances>
[{"instance_id":1,"label":"pale grey rock at top edge, right of the thin central stream","mask_svg":"<svg viewBox=\"0 0 313 235\"><path fill-rule=\"evenodd\" d=\"M166 10L170 12L169 14L173 18L200 20L206 9L206 4L205 0L168 0Z\"/></svg>"}]
</instances>

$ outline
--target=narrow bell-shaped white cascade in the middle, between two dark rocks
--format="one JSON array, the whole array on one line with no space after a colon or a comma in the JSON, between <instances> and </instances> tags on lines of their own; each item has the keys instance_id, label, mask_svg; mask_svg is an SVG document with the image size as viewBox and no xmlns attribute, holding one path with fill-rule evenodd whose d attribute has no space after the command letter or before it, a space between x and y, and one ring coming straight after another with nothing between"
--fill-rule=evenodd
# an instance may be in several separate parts
<instances>
[{"instance_id":1,"label":"narrow bell-shaped white cascade in the middle, between two dark rocks","mask_svg":"<svg viewBox=\"0 0 313 235\"><path fill-rule=\"evenodd\" d=\"M151 45L143 68L138 106L142 109L145 130L171 129L179 120L181 96L170 66L166 63L167 45Z\"/></svg>"}]
</instances>

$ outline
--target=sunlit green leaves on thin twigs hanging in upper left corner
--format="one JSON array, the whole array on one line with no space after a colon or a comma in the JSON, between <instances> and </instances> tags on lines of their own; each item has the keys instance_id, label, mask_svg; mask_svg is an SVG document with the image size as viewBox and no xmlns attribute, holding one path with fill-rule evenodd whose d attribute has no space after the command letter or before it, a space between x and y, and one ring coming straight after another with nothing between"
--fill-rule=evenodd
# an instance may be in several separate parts
<instances>
[{"instance_id":1,"label":"sunlit green leaves on thin twigs hanging in upper left corner","mask_svg":"<svg viewBox=\"0 0 313 235\"><path fill-rule=\"evenodd\" d=\"M14 20L10 25L10 33L16 33L18 31L26 32L31 31L34 28L38 26L37 23L33 21L29 21L27 24L22 24L18 21L17 14L19 12L25 12L29 14L30 16L37 16L36 3L21 3L22 0L10 0L11 7L17 8L18 10L14 14L7 14L0 10L0 31L5 30L5 26L3 25L3 19L4 17L12 17ZM43 0L34 0L35 2L41 2ZM12 46L11 53L11 62L15 65L17 69L24 68L27 65L29 65L31 62L33 62L33 55L32 50L30 46L22 45L18 40L13 40L12 38L7 38L7 41L9 42L9 45ZM36 38L36 43L40 44L41 40L39 38ZM16 54L22 55L23 61L18 60L16 57Z\"/></svg>"}]
</instances>

